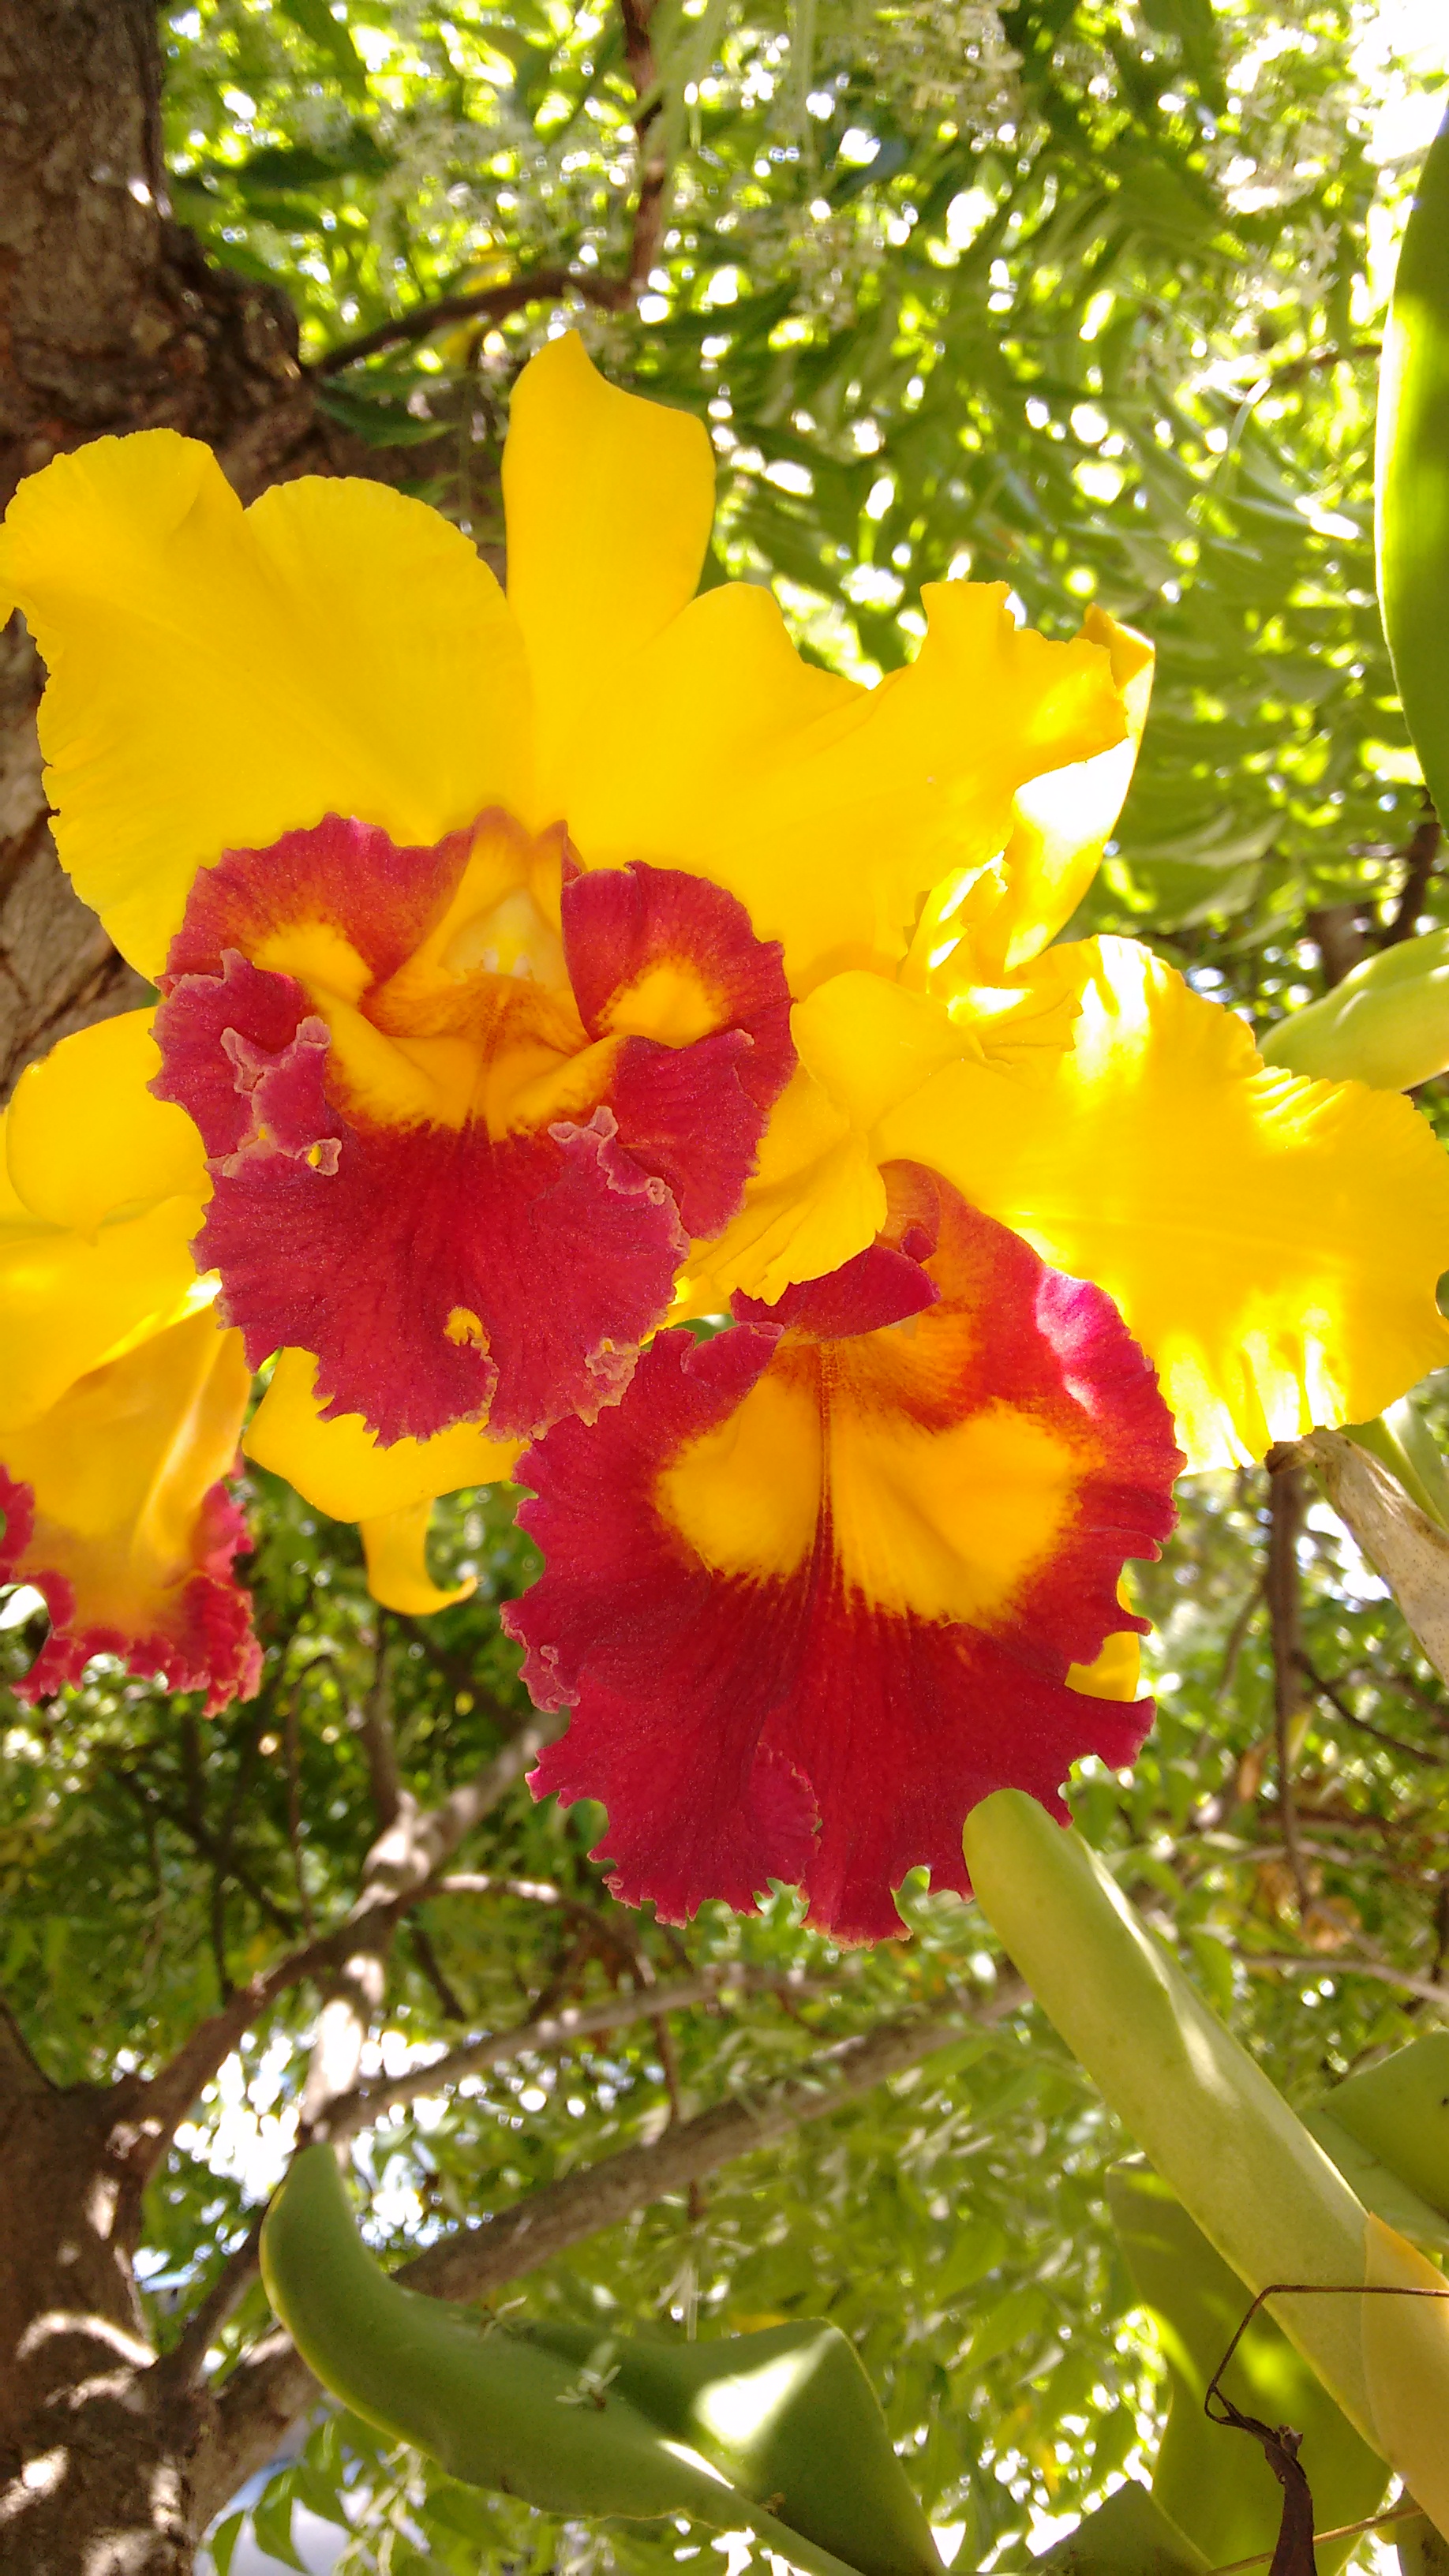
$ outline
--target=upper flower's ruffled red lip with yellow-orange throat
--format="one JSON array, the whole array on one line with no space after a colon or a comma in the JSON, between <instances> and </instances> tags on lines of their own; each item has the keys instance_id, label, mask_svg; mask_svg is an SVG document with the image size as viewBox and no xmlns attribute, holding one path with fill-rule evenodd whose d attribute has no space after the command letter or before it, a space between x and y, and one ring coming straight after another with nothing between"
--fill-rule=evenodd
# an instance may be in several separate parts
<instances>
[{"instance_id":1,"label":"upper flower's ruffled red lip with yellow-orange throat","mask_svg":"<svg viewBox=\"0 0 1449 2576\"><path fill-rule=\"evenodd\" d=\"M322 1409L382 1440L616 1401L794 1061L779 951L730 894L578 876L505 814L433 850L330 817L229 853L157 1038L248 1358L315 1352Z\"/></svg>"}]
</instances>

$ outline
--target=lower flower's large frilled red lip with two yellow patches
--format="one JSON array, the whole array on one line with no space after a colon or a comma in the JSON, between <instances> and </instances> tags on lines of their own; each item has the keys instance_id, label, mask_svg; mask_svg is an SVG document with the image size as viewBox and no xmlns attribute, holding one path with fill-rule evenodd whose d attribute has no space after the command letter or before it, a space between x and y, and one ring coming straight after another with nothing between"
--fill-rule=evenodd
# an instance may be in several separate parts
<instances>
[{"instance_id":1,"label":"lower flower's large frilled red lip with two yellow patches","mask_svg":"<svg viewBox=\"0 0 1449 2576\"><path fill-rule=\"evenodd\" d=\"M534 1790L601 1798L614 1891L665 1919L781 1878L843 1940L897 1932L910 1868L967 1891L980 1798L1062 1814L1067 1767L1129 1762L1150 1718L1067 1687L1173 1522L1147 1360L933 1175L887 1195L784 1327L660 1334L614 1414L518 1466L547 1571L505 1623L572 1708Z\"/></svg>"}]
</instances>

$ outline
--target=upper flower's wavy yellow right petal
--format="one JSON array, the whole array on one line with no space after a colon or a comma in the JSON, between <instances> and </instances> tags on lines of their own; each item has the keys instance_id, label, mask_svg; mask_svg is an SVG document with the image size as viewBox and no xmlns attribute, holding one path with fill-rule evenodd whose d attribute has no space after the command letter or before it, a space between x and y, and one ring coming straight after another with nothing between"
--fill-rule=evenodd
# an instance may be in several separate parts
<instances>
[{"instance_id":1,"label":"upper flower's wavy yellow right petal","mask_svg":"<svg viewBox=\"0 0 1449 2576\"><path fill-rule=\"evenodd\" d=\"M794 657L758 592L712 590L639 657L650 752L627 724L570 768L588 866L647 858L737 894L784 940L792 992L895 966L920 896L998 855L1013 796L1127 739L1104 644L1018 629L1006 585L936 582L910 670L859 690ZM634 690L632 690L634 696Z\"/></svg>"}]
</instances>

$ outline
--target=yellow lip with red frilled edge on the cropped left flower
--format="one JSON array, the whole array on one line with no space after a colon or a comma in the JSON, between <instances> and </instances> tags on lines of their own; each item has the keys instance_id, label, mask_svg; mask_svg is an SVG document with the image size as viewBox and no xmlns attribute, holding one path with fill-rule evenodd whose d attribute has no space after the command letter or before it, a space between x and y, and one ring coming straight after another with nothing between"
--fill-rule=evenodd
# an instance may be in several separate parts
<instances>
[{"instance_id":1,"label":"yellow lip with red frilled edge on the cropped left flower","mask_svg":"<svg viewBox=\"0 0 1449 2576\"><path fill-rule=\"evenodd\" d=\"M201 1311L5 1432L0 1582L34 1584L52 1615L21 1700L77 1682L93 1654L204 1690L206 1716L255 1692L253 1605L232 1574L250 1540L222 1484L248 1391L240 1334Z\"/></svg>"}]
</instances>

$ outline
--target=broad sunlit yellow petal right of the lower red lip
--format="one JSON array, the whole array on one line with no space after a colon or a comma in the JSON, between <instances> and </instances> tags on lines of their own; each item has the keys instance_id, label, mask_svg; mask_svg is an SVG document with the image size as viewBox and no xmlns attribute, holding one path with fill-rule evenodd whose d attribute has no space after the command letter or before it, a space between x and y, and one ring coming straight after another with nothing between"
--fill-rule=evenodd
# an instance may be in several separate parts
<instances>
[{"instance_id":1,"label":"broad sunlit yellow petal right of the lower red lip","mask_svg":"<svg viewBox=\"0 0 1449 2576\"><path fill-rule=\"evenodd\" d=\"M1158 1363L1191 1466L1361 1422L1449 1360L1449 1159L1387 1092L1266 1072L1243 1023L1132 940L1078 951L1049 1082L951 1064L874 1149L944 1172Z\"/></svg>"}]
</instances>

